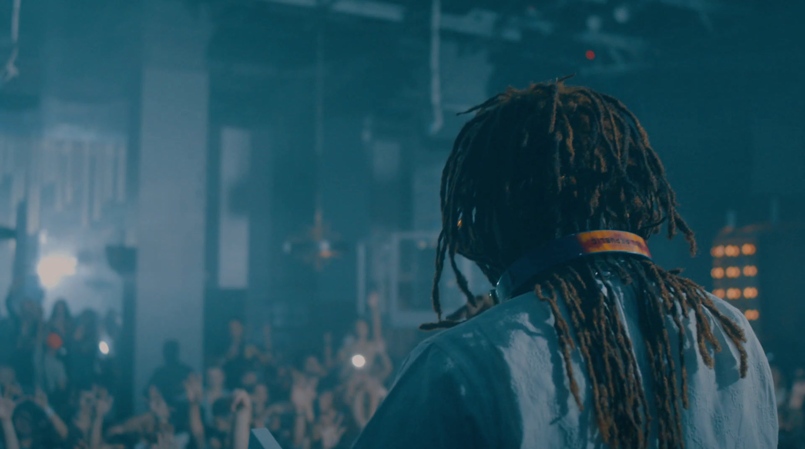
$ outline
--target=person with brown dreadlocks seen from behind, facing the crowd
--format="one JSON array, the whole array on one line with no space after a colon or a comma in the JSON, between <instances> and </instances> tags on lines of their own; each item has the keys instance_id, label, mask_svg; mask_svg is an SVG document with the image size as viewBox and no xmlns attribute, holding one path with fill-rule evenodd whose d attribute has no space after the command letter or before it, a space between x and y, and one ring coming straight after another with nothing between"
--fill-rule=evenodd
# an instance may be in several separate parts
<instances>
[{"instance_id":1,"label":"person with brown dreadlocks seen from behind, facing the crowd","mask_svg":"<svg viewBox=\"0 0 805 449\"><path fill-rule=\"evenodd\" d=\"M777 447L748 321L651 261L663 225L696 241L637 118L563 80L469 112L442 175L439 319L423 325L452 328L409 356L355 447ZM492 307L456 254L496 286ZM447 319L445 263L468 301Z\"/></svg>"}]
</instances>

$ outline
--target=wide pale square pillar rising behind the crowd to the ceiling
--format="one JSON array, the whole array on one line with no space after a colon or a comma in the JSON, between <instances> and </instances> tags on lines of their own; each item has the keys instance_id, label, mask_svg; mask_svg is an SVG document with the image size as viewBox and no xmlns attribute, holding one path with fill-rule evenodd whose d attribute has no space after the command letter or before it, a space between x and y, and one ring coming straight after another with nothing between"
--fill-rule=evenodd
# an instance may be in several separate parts
<instances>
[{"instance_id":1,"label":"wide pale square pillar rising behind the crowd to the ceiling","mask_svg":"<svg viewBox=\"0 0 805 449\"><path fill-rule=\"evenodd\" d=\"M165 340L202 365L209 25L184 2L147 0L140 92L134 394ZM138 409L144 403L135 401Z\"/></svg>"}]
</instances>

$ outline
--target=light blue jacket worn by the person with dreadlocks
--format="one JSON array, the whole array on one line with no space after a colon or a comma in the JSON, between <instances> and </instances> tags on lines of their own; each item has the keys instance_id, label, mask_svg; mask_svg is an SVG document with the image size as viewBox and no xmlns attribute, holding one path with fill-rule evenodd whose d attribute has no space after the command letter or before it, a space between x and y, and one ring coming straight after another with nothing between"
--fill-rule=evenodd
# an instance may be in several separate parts
<instances>
[{"instance_id":1,"label":"light blue jacket worn by the person with dreadlocks","mask_svg":"<svg viewBox=\"0 0 805 449\"><path fill-rule=\"evenodd\" d=\"M599 286L615 290L642 378L650 379L638 322L639 299L631 286L611 275L605 279ZM711 327L723 349L713 354L715 369L707 368L696 349L695 315L683 320L689 398L682 413L685 447L774 449L777 407L766 355L744 315L716 297L712 301L744 328L749 370L740 377L737 349L712 315ZM567 311L562 312L571 323ZM572 352L584 404L580 410L568 389L553 324L547 303L529 293L424 341L406 360L354 448L606 447L597 430L584 360L577 350ZM667 327L671 347L677 348L671 319ZM678 353L673 353L679 366ZM656 416L651 382L643 385ZM657 447L656 429L650 447Z\"/></svg>"}]
</instances>

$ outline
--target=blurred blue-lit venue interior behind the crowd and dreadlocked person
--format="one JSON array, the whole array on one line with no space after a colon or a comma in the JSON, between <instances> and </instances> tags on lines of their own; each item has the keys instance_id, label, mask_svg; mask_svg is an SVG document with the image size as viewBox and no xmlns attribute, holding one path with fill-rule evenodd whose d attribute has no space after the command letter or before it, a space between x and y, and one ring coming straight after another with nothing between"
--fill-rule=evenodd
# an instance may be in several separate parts
<instances>
[{"instance_id":1,"label":"blurred blue-lit venue interior behind the crowd and dreadlocked person","mask_svg":"<svg viewBox=\"0 0 805 449\"><path fill-rule=\"evenodd\" d=\"M575 73L640 117L704 248L654 237L658 262L745 311L782 393L805 388L803 18L794 0L2 0L2 313L97 315L118 418L147 409L163 342L203 373L233 323L244 347L324 360L325 333L341 346L377 311L396 366L433 319L456 114Z\"/></svg>"}]
</instances>

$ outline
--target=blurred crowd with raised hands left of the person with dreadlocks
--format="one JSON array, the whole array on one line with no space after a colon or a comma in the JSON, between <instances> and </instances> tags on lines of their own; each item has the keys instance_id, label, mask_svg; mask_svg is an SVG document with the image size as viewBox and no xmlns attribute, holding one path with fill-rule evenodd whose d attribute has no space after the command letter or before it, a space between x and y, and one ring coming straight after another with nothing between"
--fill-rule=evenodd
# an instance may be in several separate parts
<instances>
[{"instance_id":1,"label":"blurred crowd with raised hands left of the person with dreadlocks","mask_svg":"<svg viewBox=\"0 0 805 449\"><path fill-rule=\"evenodd\" d=\"M11 295L10 295L11 297ZM115 405L114 315L72 316L67 303L49 319L39 303L7 300L0 322L0 449L246 449L250 429L268 427L283 449L349 447L385 398L392 373L378 298L372 323L358 320L338 348L283 354L263 328L259 344L229 322L229 349L204 373L184 365L175 341L142 392L147 411ZM374 328L373 328L374 327Z\"/></svg>"}]
</instances>

